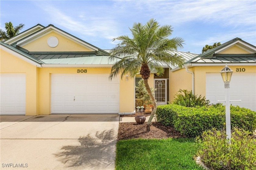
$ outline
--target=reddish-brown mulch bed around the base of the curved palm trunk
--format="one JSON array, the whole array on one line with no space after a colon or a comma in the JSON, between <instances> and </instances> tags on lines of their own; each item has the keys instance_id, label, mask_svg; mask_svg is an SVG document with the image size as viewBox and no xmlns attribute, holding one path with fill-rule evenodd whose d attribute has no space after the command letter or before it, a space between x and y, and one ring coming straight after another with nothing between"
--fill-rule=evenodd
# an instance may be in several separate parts
<instances>
[{"instance_id":1,"label":"reddish-brown mulch bed around the base of the curved palm trunk","mask_svg":"<svg viewBox=\"0 0 256 170\"><path fill-rule=\"evenodd\" d=\"M151 122L150 131L146 131L147 124L137 123L119 123L118 129L118 140L122 139L134 139L134 138L145 138L145 139L164 139L164 138L178 138L182 137L179 132L174 130L172 127L165 127L159 122Z\"/></svg>"}]
</instances>

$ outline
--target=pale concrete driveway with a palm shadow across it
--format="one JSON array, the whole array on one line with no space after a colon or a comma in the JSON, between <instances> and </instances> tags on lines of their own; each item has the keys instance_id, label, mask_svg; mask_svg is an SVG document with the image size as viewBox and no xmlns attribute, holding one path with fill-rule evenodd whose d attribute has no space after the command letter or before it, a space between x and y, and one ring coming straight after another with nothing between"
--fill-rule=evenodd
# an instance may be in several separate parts
<instances>
[{"instance_id":1,"label":"pale concrete driveway with a palm shadow across it","mask_svg":"<svg viewBox=\"0 0 256 170\"><path fill-rule=\"evenodd\" d=\"M119 115L0 116L0 122L1 169L115 168Z\"/></svg>"}]
</instances>

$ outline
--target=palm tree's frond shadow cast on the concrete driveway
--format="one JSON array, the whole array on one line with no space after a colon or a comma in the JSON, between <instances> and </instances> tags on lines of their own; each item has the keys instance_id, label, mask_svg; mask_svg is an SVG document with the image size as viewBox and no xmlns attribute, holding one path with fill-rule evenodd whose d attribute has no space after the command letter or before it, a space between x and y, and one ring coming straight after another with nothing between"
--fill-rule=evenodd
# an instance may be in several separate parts
<instances>
[{"instance_id":1,"label":"palm tree's frond shadow cast on the concrete driveway","mask_svg":"<svg viewBox=\"0 0 256 170\"><path fill-rule=\"evenodd\" d=\"M54 155L66 167L87 166L88 168L107 169L114 166L117 142L114 130L98 131L95 137L92 138L91 134L82 136L78 139L80 145L63 146L60 152Z\"/></svg>"}]
</instances>

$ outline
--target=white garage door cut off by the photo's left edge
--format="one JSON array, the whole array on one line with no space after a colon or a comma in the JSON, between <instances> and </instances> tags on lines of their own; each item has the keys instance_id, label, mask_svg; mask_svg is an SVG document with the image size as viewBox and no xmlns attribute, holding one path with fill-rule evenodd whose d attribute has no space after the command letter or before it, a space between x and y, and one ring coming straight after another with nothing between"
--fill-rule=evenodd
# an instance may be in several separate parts
<instances>
[{"instance_id":1,"label":"white garage door cut off by the photo's left edge","mask_svg":"<svg viewBox=\"0 0 256 170\"><path fill-rule=\"evenodd\" d=\"M26 113L26 75L1 73L1 115Z\"/></svg>"}]
</instances>

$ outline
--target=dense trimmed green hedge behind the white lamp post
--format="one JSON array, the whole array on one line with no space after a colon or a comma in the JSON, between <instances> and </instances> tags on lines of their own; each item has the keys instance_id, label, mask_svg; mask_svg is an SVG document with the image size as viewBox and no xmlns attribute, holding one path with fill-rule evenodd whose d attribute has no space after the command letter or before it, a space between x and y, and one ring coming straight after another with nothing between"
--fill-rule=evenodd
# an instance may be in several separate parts
<instances>
[{"instance_id":1,"label":"dense trimmed green hedge behind the white lamp post","mask_svg":"<svg viewBox=\"0 0 256 170\"><path fill-rule=\"evenodd\" d=\"M186 137L197 137L213 127L225 128L225 106L185 107L175 104L158 106L158 122L172 126ZM256 129L256 112L250 109L230 106L231 127L238 127L250 132Z\"/></svg>"}]
</instances>

